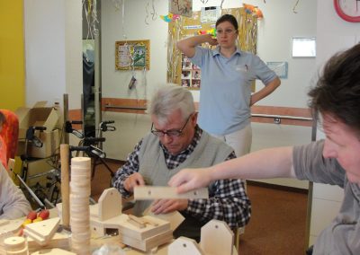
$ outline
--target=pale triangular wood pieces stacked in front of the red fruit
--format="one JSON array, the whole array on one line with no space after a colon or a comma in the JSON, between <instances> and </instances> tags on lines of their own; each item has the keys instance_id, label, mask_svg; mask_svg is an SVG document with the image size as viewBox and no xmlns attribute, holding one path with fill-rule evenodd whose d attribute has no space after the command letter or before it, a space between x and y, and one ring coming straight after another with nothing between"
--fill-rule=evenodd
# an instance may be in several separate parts
<instances>
[{"instance_id":1,"label":"pale triangular wood pieces stacked in front of the red fruit","mask_svg":"<svg viewBox=\"0 0 360 255\"><path fill-rule=\"evenodd\" d=\"M58 230L59 223L60 219L56 217L37 223L26 224L23 233L26 233L40 245L46 245Z\"/></svg>"}]
</instances>

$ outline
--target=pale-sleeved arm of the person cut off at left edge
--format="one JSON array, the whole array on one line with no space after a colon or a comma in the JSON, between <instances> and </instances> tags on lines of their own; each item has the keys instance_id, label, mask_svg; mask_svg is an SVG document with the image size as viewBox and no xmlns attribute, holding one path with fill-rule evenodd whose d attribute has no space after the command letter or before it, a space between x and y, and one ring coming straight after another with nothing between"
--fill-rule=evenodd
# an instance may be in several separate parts
<instances>
[{"instance_id":1,"label":"pale-sleeved arm of the person cut off at left edge","mask_svg":"<svg viewBox=\"0 0 360 255\"><path fill-rule=\"evenodd\" d=\"M14 185L2 163L0 163L0 219L17 219L31 211L23 191Z\"/></svg>"}]
</instances>

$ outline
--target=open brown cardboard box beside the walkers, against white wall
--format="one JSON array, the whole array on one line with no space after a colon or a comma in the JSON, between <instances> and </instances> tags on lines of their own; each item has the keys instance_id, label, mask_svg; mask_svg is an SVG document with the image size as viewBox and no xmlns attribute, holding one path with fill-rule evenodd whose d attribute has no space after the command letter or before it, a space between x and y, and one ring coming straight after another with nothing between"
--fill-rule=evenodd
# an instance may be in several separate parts
<instances>
[{"instance_id":1,"label":"open brown cardboard box beside the walkers, against white wall","mask_svg":"<svg viewBox=\"0 0 360 255\"><path fill-rule=\"evenodd\" d=\"M30 127L45 127L45 131L35 130L34 136L42 142L42 147L28 143L30 157L46 158L58 154L60 113L54 107L46 107L47 101L38 101L33 108L19 108L15 111L19 118L19 143L17 154L25 153L26 131Z\"/></svg>"}]
</instances>

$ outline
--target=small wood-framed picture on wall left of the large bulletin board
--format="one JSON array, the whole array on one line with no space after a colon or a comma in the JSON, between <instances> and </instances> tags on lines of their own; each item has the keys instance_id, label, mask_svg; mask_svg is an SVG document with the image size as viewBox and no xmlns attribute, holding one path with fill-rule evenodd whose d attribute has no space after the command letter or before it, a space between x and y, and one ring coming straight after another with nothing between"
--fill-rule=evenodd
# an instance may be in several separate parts
<instances>
[{"instance_id":1,"label":"small wood-framed picture on wall left of the large bulletin board","mask_svg":"<svg viewBox=\"0 0 360 255\"><path fill-rule=\"evenodd\" d=\"M150 69L150 40L119 40L115 42L115 69Z\"/></svg>"}]
</instances>

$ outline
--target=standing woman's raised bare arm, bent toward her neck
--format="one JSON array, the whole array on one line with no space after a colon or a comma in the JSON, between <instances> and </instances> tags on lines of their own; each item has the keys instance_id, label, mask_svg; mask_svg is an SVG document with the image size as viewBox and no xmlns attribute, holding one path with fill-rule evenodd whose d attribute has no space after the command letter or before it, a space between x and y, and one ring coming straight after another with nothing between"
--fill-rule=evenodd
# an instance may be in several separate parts
<instances>
[{"instance_id":1,"label":"standing woman's raised bare arm, bent toward her neck","mask_svg":"<svg viewBox=\"0 0 360 255\"><path fill-rule=\"evenodd\" d=\"M202 34L199 36L193 36L184 40L180 40L177 42L176 46L187 57L193 57L195 55L195 47L204 42L209 42L210 45L218 44L218 41L212 38L211 34Z\"/></svg>"}]
</instances>

